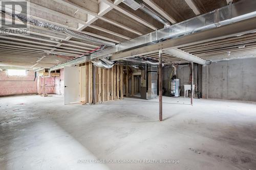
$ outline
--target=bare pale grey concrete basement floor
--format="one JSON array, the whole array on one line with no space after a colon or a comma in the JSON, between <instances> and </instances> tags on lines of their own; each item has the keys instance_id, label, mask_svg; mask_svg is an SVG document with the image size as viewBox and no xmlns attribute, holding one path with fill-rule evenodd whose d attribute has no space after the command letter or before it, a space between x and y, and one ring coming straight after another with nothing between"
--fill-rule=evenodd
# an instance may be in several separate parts
<instances>
[{"instance_id":1,"label":"bare pale grey concrete basement floor","mask_svg":"<svg viewBox=\"0 0 256 170\"><path fill-rule=\"evenodd\" d=\"M256 169L256 103L163 102L160 123L157 100L0 98L0 169ZM81 163L94 159L179 163Z\"/></svg>"}]
</instances>

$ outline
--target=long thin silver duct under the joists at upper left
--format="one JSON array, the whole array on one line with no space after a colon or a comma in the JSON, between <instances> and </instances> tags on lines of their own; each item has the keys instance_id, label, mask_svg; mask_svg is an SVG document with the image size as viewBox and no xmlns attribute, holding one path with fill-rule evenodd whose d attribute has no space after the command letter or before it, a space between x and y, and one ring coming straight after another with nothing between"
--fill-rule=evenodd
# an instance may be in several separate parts
<instances>
[{"instance_id":1,"label":"long thin silver duct under the joists at upper left","mask_svg":"<svg viewBox=\"0 0 256 170\"><path fill-rule=\"evenodd\" d=\"M29 18L29 17L24 16L24 15L20 15L20 14L10 14L10 15L12 15L13 17L14 16L17 17L19 20L21 20L23 22L29 22L30 24L32 24L34 26L51 29L51 30L57 31L57 32L63 32L63 33L66 33L68 35L71 35L72 37L76 37L76 38L79 38L79 39L82 39L82 40L94 42L94 43L101 44L101 45L107 45L107 46L114 46L115 45L115 43L113 43L113 42L97 39L97 38L91 37L89 35L77 32L77 31L66 29L64 27L59 27L59 26L53 25L51 23L40 21L40 20L37 20L37 19Z\"/></svg>"}]
</instances>

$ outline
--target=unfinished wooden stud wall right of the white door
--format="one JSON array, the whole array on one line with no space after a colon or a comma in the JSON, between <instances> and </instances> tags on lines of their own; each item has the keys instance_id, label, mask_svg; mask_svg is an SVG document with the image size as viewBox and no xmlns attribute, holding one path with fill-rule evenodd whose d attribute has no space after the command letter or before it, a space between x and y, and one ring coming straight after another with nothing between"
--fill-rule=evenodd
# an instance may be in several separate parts
<instances>
[{"instance_id":1,"label":"unfinished wooden stud wall right of the white door","mask_svg":"<svg viewBox=\"0 0 256 170\"><path fill-rule=\"evenodd\" d=\"M80 102L93 103L93 64L80 66ZM123 98L123 66L114 65L111 69L95 67L95 103Z\"/></svg>"}]
</instances>

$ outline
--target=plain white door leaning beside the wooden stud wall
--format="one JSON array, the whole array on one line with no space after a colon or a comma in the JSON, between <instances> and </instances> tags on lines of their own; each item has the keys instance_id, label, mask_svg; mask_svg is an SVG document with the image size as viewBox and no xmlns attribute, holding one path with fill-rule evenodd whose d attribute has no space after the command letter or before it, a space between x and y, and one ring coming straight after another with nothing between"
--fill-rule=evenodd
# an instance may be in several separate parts
<instances>
[{"instance_id":1,"label":"plain white door leaning beside the wooden stud wall","mask_svg":"<svg viewBox=\"0 0 256 170\"><path fill-rule=\"evenodd\" d=\"M79 102L79 67L64 67L64 104Z\"/></svg>"}]
</instances>

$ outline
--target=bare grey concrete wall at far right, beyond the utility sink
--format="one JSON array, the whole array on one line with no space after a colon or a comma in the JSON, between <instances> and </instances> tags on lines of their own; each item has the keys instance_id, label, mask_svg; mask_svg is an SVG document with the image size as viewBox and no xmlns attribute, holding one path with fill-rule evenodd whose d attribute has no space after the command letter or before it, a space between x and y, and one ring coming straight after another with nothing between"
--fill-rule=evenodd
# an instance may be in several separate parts
<instances>
[{"instance_id":1,"label":"bare grey concrete wall at far right, beyond the utility sink","mask_svg":"<svg viewBox=\"0 0 256 170\"><path fill-rule=\"evenodd\" d=\"M256 101L256 58L203 66L203 98L207 96L210 99Z\"/></svg>"}]
</instances>

